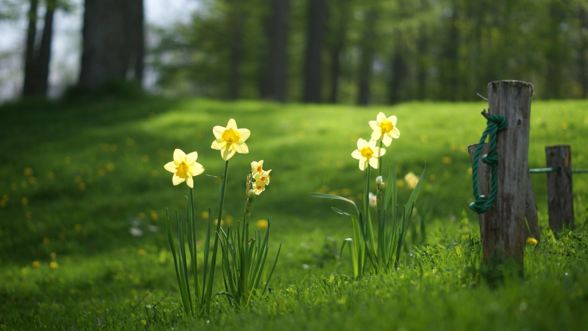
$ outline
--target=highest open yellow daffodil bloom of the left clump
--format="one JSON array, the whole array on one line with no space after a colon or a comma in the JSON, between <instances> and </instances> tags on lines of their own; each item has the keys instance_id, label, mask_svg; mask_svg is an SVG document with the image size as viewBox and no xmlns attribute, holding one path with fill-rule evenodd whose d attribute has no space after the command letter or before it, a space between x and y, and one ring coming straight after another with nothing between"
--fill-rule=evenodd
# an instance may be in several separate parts
<instances>
[{"instance_id":1,"label":"highest open yellow daffodil bloom of the left clump","mask_svg":"<svg viewBox=\"0 0 588 331\"><path fill-rule=\"evenodd\" d=\"M249 138L250 131L237 128L237 123L232 118L226 127L217 125L212 128L212 133L215 135L216 140L212 142L211 148L220 150L220 156L223 160L228 161L229 158L235 155L235 152L249 153L245 140Z\"/></svg>"}]
</instances>

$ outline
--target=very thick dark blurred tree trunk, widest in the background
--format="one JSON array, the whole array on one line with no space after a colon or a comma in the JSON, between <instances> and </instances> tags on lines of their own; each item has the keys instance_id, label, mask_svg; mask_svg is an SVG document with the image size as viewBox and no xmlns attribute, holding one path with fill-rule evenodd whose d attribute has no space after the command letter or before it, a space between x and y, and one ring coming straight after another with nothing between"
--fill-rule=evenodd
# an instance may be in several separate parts
<instances>
[{"instance_id":1,"label":"very thick dark blurred tree trunk, widest in the background","mask_svg":"<svg viewBox=\"0 0 588 331\"><path fill-rule=\"evenodd\" d=\"M94 90L108 80L141 80L143 1L85 0L79 86Z\"/></svg>"}]
</instances>

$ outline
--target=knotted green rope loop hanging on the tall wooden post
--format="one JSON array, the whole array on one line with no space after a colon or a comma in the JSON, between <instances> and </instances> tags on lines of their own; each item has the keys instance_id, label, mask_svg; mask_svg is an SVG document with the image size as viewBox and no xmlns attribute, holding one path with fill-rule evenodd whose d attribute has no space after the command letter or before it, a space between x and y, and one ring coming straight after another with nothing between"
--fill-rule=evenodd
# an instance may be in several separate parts
<instances>
[{"instance_id":1,"label":"knotted green rope loop hanging on the tall wooden post","mask_svg":"<svg viewBox=\"0 0 588 331\"><path fill-rule=\"evenodd\" d=\"M498 188L498 176L496 171L496 163L498 162L498 155L496 155L496 134L498 131L502 131L506 128L506 117L503 115L489 115L487 117L487 127L482 133L480 143L477 145L476 153L474 153L474 161L472 164L472 181L474 187L474 198L476 199L473 203L470 203L470 209L478 214L486 213L492 207L492 203L496 198L496 189ZM484 141L488 138L489 148L488 154L482 155L483 163L489 164L492 167L492 183L490 185L490 194L488 198L480 194L478 188L477 171L478 162L480 160L480 154L482 154L482 147L484 147Z\"/></svg>"}]
</instances>

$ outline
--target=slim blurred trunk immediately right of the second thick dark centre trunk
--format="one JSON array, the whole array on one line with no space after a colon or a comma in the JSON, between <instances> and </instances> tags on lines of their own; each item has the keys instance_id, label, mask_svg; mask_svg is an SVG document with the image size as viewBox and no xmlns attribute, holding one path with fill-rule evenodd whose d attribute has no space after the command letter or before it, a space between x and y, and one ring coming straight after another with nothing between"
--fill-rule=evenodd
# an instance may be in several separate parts
<instances>
[{"instance_id":1,"label":"slim blurred trunk immediately right of the second thick dark centre trunk","mask_svg":"<svg viewBox=\"0 0 588 331\"><path fill-rule=\"evenodd\" d=\"M334 41L329 50L330 55L330 93L329 102L337 102L339 75L341 72L341 54L347 41L347 20L349 16L349 0L338 0L338 4L330 10L330 18L336 20ZM336 15L335 15L336 14Z\"/></svg>"}]
</instances>

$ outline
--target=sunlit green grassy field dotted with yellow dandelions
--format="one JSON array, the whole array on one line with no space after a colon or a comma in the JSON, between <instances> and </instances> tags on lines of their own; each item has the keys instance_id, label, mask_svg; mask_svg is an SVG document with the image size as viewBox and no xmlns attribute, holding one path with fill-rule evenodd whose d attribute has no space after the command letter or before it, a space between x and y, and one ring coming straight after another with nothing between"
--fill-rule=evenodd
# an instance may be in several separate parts
<instances>
[{"instance_id":1,"label":"sunlit green grassy field dotted with yellow dandelions","mask_svg":"<svg viewBox=\"0 0 588 331\"><path fill-rule=\"evenodd\" d=\"M527 247L524 280L490 289L480 279L477 216L467 144L485 128L476 103L411 102L396 107L281 105L211 100L24 102L0 107L0 329L509 329L588 322L588 175L574 175L577 229L556 240L547 229L546 176L533 175L542 243ZM588 168L588 101L532 105L529 163L544 167L544 146L572 145L573 166ZM343 203L359 200L363 173L350 153L368 138L377 112L395 114L401 137L387 148L399 178L426 181L417 222L395 273L352 280L352 234ZM220 176L212 127L235 118L249 128L250 153L229 167L225 220L243 210L250 161L265 160L272 183L252 220L272 216L270 254L282 253L271 292L244 312L224 299L209 320L182 318L165 208L182 208L185 185L163 164L174 148L198 151ZM385 171L386 173L387 171ZM219 178L195 177L197 214L215 210ZM399 185L404 183L400 181ZM410 191L400 187L399 201ZM131 221L141 220L140 237ZM203 234L205 220L200 223ZM416 223L415 223L416 224ZM158 228L158 229L157 229ZM152 231L153 230L153 231ZM203 243L199 243L199 247ZM201 249L202 251L202 249ZM221 289L220 283L218 284ZM217 297L218 298L218 297Z\"/></svg>"}]
</instances>

